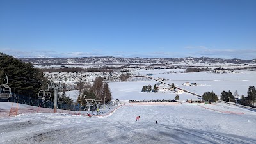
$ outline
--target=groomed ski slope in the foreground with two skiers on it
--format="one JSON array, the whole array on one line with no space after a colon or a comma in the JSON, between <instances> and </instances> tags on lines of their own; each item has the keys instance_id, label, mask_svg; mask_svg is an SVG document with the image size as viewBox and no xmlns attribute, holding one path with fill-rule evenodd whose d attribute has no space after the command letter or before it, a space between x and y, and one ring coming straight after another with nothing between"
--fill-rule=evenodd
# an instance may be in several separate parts
<instances>
[{"instance_id":1,"label":"groomed ski slope in the foreground with two skiers on it","mask_svg":"<svg viewBox=\"0 0 256 144\"><path fill-rule=\"evenodd\" d=\"M255 124L255 112L228 104L130 104L105 117L31 113L0 118L0 143L256 143Z\"/></svg>"}]
</instances>

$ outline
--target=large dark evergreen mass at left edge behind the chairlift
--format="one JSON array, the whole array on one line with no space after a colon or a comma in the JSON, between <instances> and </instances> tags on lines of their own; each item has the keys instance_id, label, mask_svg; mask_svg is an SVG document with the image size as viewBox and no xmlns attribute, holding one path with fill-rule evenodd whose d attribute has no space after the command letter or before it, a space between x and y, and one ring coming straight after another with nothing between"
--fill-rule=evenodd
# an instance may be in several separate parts
<instances>
[{"instance_id":1,"label":"large dark evergreen mass at left edge behind the chairlift","mask_svg":"<svg viewBox=\"0 0 256 144\"><path fill-rule=\"evenodd\" d=\"M14 91L22 91L26 95L37 97L39 85L47 85L47 80L42 78L43 72L34 68L31 63L23 63L12 56L0 52L0 84L8 75L8 86Z\"/></svg>"}]
</instances>

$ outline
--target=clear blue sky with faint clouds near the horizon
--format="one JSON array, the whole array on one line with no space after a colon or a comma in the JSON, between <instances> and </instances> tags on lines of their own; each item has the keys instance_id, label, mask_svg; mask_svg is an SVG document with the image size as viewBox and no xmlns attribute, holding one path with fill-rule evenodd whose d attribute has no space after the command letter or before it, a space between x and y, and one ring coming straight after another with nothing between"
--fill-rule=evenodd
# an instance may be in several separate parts
<instances>
[{"instance_id":1,"label":"clear blue sky with faint clouds near the horizon","mask_svg":"<svg viewBox=\"0 0 256 144\"><path fill-rule=\"evenodd\" d=\"M0 0L15 57L256 58L255 0Z\"/></svg>"}]
</instances>

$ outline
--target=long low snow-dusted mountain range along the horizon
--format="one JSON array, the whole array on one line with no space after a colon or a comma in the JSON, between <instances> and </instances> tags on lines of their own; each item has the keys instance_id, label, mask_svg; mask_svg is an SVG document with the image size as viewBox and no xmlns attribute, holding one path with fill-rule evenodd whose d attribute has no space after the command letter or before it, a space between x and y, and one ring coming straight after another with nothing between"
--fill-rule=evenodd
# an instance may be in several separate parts
<instances>
[{"instance_id":1,"label":"long low snow-dusted mountain range along the horizon","mask_svg":"<svg viewBox=\"0 0 256 144\"><path fill-rule=\"evenodd\" d=\"M118 57L84 57L84 58L18 58L24 62L33 64L74 64L74 63L256 63L253 60L222 59L222 58L118 58Z\"/></svg>"}]
</instances>

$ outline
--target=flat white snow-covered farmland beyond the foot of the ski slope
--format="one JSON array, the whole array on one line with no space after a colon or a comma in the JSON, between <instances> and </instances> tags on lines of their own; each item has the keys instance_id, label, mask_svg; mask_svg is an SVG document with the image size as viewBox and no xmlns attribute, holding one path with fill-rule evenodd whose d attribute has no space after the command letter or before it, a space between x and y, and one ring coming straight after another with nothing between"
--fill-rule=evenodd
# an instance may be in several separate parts
<instances>
[{"instance_id":1,"label":"flat white snow-covered farmland beyond the foot of the ski slope","mask_svg":"<svg viewBox=\"0 0 256 144\"><path fill-rule=\"evenodd\" d=\"M177 71L177 73L167 73ZM242 94L247 96L249 86L256 86L256 71L237 70L238 73L207 73L207 72L193 72L193 73L180 73L182 70L138 70L134 73L146 75L153 74L154 79L164 78L170 79L164 83L172 84L179 88L188 90L189 92L202 95L205 92L212 90L218 97L221 92L230 90L233 95L237 90L239 96ZM184 70L183 70L184 71ZM197 83L198 86L183 86L182 83ZM114 99L120 100L150 100L150 99L174 99L176 93L145 93L141 92L144 85L150 84L152 87L157 81L139 81L139 82L113 82L109 83ZM180 100L195 99L196 97L191 94L179 94Z\"/></svg>"}]
</instances>

